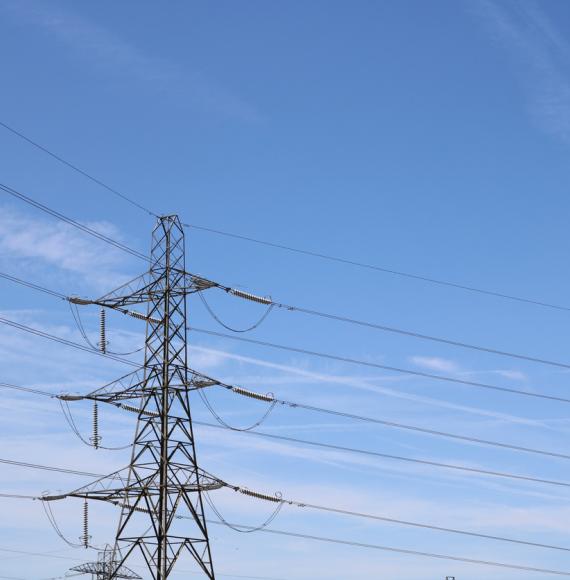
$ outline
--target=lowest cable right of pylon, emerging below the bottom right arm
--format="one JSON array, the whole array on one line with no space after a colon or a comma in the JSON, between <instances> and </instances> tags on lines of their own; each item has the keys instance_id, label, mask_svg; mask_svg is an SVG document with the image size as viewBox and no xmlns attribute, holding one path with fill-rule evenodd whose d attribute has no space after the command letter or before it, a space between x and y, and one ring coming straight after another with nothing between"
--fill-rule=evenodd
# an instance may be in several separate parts
<instances>
[{"instance_id":1,"label":"lowest cable right of pylon, emerging below the bottom right arm","mask_svg":"<svg viewBox=\"0 0 570 580\"><path fill-rule=\"evenodd\" d=\"M215 520L207 520L209 524L215 525L225 525L223 522L215 521ZM243 529L250 529L252 526L244 526L241 524L232 524L236 527L241 527ZM302 540L314 540L317 542L328 542L337 545L344 545L350 546L354 548L367 548L372 550L382 550L384 552L393 552L396 554L405 554L407 556L420 556L424 558L436 558L438 560L450 560L452 562L463 562L466 564L477 564L481 566L491 566L495 568L503 568L503 569L511 569L511 570L520 570L524 572L537 572L539 574L553 574L557 576L570 576L570 572L564 572L560 570L551 570L548 568L534 568L531 566L522 566L519 564L509 564L505 562L493 562L490 560L477 560L474 558L464 558L461 556L452 556L448 554L436 554L433 552L421 552L418 550L406 550L404 548L394 548L392 546L381 546L379 544L368 544L363 542L354 542L349 540L341 540L337 538L330 538L325 536L315 536L311 534L301 534L298 532L289 532L285 530L276 530L274 528L264 528L259 530L259 533L262 534L275 534L278 536L288 536L292 538L299 538Z\"/></svg>"}]
</instances>

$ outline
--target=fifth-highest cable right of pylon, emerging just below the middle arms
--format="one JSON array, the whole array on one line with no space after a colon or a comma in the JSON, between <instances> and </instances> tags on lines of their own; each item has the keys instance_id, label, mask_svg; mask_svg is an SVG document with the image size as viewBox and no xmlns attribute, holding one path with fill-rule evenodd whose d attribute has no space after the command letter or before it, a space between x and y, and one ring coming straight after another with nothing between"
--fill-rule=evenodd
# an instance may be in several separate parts
<instances>
[{"instance_id":1,"label":"fifth-highest cable right of pylon, emerging just below the middle arms","mask_svg":"<svg viewBox=\"0 0 570 580\"><path fill-rule=\"evenodd\" d=\"M212 429L227 429L222 425L216 425L215 423L206 423L204 421L194 421L196 425L202 425L204 427L211 427ZM392 455L390 453L380 453L378 451L369 451L366 449L357 449L355 447L343 447L342 445L333 445L331 443L320 443L317 441L309 441L307 439L298 439L296 437L288 437L286 435L274 435L273 433L267 433L266 431L240 431L246 435L252 435L256 437L263 437L266 439L274 439L276 441L288 441L290 443L299 443L301 445L310 445L312 447L320 447L322 449L330 449L332 451L342 451L344 453L354 453L359 455L367 455L370 457L378 457L380 459L390 459L395 461L402 461L405 463L414 463L418 465L427 465L429 467L437 467L442 469L449 469L453 471L460 471L464 473L471 473L475 475L487 475L491 477L500 477L505 479L513 479L518 481L526 481L530 483L540 483L544 485L554 485L558 487L569 487L570 482L568 481L558 481L552 479L543 479L540 477L532 477L527 475L520 475L517 473L508 473L505 471L494 471L490 469L480 469L478 467L468 467L465 465L456 465L452 463L442 463L439 461L431 461L428 459L419 459L415 457L404 457L402 455Z\"/></svg>"}]
</instances>

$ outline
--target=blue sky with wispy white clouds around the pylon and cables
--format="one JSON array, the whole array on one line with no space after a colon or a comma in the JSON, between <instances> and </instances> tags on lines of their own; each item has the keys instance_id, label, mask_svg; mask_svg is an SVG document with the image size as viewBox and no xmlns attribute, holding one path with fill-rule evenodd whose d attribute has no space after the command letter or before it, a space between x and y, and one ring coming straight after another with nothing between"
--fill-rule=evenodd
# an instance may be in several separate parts
<instances>
[{"instance_id":1,"label":"blue sky with wispy white clouds around the pylon and cables","mask_svg":"<svg viewBox=\"0 0 570 580\"><path fill-rule=\"evenodd\" d=\"M0 120L153 211L185 222L387 268L568 305L570 7L562 0L0 3ZM153 220L0 130L0 182L148 251ZM133 258L2 194L0 270L95 296L140 272ZM276 300L569 361L568 313L341 266L188 230L193 272ZM0 283L2 316L70 340L65 303ZM224 321L261 313L209 295ZM192 323L220 329L191 298ZM96 337L97 312L84 322ZM109 317L116 350L142 328ZM509 388L566 396L568 373L276 311L251 338ZM565 405L325 362L192 333L191 364L244 387L381 419L565 452ZM85 392L126 372L112 361L0 328L0 381ZM2 394L0 457L101 473L128 452L93 451L56 403ZM247 425L260 403L212 395ZM88 435L90 408L74 407ZM212 422L199 400L194 417ZM102 410L108 445L133 417ZM337 445L568 479L567 462L276 410L263 429ZM563 487L459 475L197 428L201 464L225 480L311 503L566 545ZM84 478L0 468L0 491L68 490ZM228 518L271 506L220 492ZM61 576L94 558L61 542L34 502L0 500L0 575ZM81 534L81 505L54 506ZM117 512L93 506L110 542ZM564 552L521 548L283 509L278 529L403 549L570 570ZM287 580L542 578L212 526L220 577ZM46 557L2 550L49 552ZM181 569L191 570L191 563ZM182 577L181 573L175 577Z\"/></svg>"}]
</instances>

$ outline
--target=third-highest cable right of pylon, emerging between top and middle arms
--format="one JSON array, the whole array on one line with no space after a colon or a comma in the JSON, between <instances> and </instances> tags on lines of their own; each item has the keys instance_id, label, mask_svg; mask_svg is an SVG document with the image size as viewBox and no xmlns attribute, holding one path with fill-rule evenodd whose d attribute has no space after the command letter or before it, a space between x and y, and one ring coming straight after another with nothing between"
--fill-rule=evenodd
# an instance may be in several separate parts
<instances>
[{"instance_id":1,"label":"third-highest cable right of pylon, emerging between top and middle arms","mask_svg":"<svg viewBox=\"0 0 570 580\"><path fill-rule=\"evenodd\" d=\"M358 365L358 366L364 366L364 367L368 367L368 368L375 368L375 369L381 369L381 370L385 370L385 371L391 371L391 372L397 372L397 373L403 373L406 375L411 375L411 376L416 376L416 377L422 377L422 378L426 378L426 379L434 379L436 381L444 381L447 383L457 383L459 385L465 385L467 387L475 387L475 388L481 388L481 389L490 389L493 391L500 391L503 393L510 393L512 395L521 395L524 397L532 397L532 398L537 398L537 399L546 399L549 401L557 401L559 403L570 403L570 399L565 398L565 397L557 397L555 395L545 395L542 393L535 393L535 392L531 392L531 391L523 391L522 389L513 389L510 387L503 387L503 386L499 386L499 385L491 385L488 383L481 383L478 381L469 381L467 379L460 379L458 377L451 377L448 375L436 375L433 373L427 373L424 371L416 371L413 369L406 369L406 368L400 368L400 367L393 367L393 366L388 366L388 365L382 365L380 363L375 363L375 362L371 362L371 361L365 361L365 360L358 360L358 359L354 359L354 358L350 358L350 357L346 357L346 356L340 356L340 355L334 355L334 354L329 354L329 353L323 353L323 352L317 352L314 350L308 350L308 349L304 349L304 348L298 348L298 347L294 347L294 346L286 346L283 344L276 344L273 342L267 342L267 341L263 341L263 340L255 340L253 338L245 338L243 336L235 336L235 335L231 335L231 334L224 334L222 332L215 332L213 330L207 330L204 328L198 328L196 326L189 326L187 328L188 330L192 331L192 332L198 332L200 334L206 334L209 336L216 336L219 338L227 338L229 340L237 340L240 342L246 342L248 344L255 344L257 346L264 346L264 347L268 347L268 348L274 348L274 349L278 349L278 350L283 350L283 351L287 351L287 352L294 352L297 354L304 354L307 356L313 356L313 357L317 357L317 358L322 358L322 359L327 359L327 360L334 360L334 361L338 361L338 362L344 362L344 363L348 363L348 364L352 364L352 365Z\"/></svg>"}]
</instances>

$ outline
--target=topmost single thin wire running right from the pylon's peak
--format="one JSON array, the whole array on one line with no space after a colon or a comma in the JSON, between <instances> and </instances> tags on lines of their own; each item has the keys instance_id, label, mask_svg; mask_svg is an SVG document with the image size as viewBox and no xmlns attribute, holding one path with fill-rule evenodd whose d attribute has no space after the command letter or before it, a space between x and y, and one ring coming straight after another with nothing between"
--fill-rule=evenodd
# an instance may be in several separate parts
<instances>
[{"instance_id":1,"label":"topmost single thin wire running right from the pylon's peak","mask_svg":"<svg viewBox=\"0 0 570 580\"><path fill-rule=\"evenodd\" d=\"M287 252L292 252L295 254L300 254L300 255L304 255L304 256L310 256L312 258L320 258L322 260L328 260L330 262L337 262L340 264L345 264L345 265L349 265L349 266L355 266L358 268L364 268L367 270L374 270L376 272L383 272L384 274L392 274L394 276L400 276L403 278L410 278L413 280L419 280L421 282L428 282L430 284L436 284L438 286L447 286L450 288L455 288L458 290L465 290L468 292L474 292L477 294L485 294L487 296L494 296L496 298L504 298L506 300L514 300L516 302L522 302L525 304L533 304L535 306L543 306L545 308L551 308L554 310L563 310L566 312L570 311L570 307L569 306L561 306L559 304L553 304L551 302L546 302L546 301L542 301L542 300L534 300L532 298L524 298L522 296L516 296L514 294L506 294L503 292L497 292L494 290L486 290L483 288L477 288L475 286L468 286L466 284L458 284L456 282L451 282L449 280L441 280L441 279L437 279L437 278L431 278L429 276L422 276L420 274L413 274L410 272L404 272L402 270L394 270L391 268L385 268L382 266L377 266L374 264L369 264L366 262L360 262L357 260L350 260L347 258L341 258L338 256L333 256L331 254L325 254L325 253L321 253L321 252L314 252L311 250L304 250L301 248L295 248L293 246L288 246L285 244L278 244L278 243L274 243L274 242L269 242L267 240L261 240L258 238L252 238L250 236L244 236L241 234L235 234L232 232L227 232L224 230L220 230L220 229L214 229L214 228L209 228L209 227L205 227L205 226L198 226L196 224L189 224L189 223L183 223L182 224L184 227L186 228L191 228L194 230L199 230L199 231L203 231L203 232L209 232L212 234L216 234L216 235L220 235L220 236L225 236L228 238L232 238L232 239L236 239L236 240L243 240L246 242L251 242L254 244L258 244L258 245L262 245L262 246L268 246L271 248L276 248L278 250L284 250Z\"/></svg>"}]
</instances>

